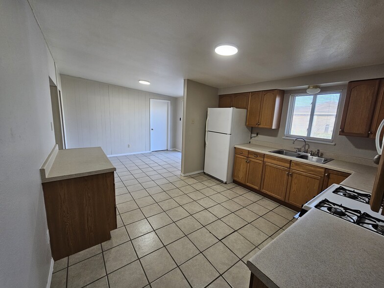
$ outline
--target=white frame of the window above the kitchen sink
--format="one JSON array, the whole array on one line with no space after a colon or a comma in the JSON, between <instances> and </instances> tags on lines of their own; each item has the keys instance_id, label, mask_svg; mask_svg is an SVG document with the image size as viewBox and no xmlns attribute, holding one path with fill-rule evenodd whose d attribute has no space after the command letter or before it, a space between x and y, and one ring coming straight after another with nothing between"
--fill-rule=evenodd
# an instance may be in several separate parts
<instances>
[{"instance_id":1,"label":"white frame of the window above the kitchen sink","mask_svg":"<svg viewBox=\"0 0 384 288\"><path fill-rule=\"evenodd\" d=\"M305 140L309 140L309 141L325 142L325 143L330 143L330 144L334 143L335 131L336 131L336 123L337 123L337 120L338 120L338 117L339 117L339 113L340 113L340 104L341 104L342 92L343 92L342 90L329 90L329 91L321 91L320 93L316 93L316 94L309 94L309 93L306 93L306 92L290 94L289 102L288 102L288 113L287 113L287 122L286 122L286 129L285 129L285 133L284 133L284 135L285 135L284 138L292 138L292 139L294 139L294 138L297 138L297 137L302 137ZM332 138L331 139L326 139L326 138L318 138L318 137L290 134L289 132L290 132L290 129L292 127L292 118L293 118L293 107L292 106L294 105L294 100L292 100L292 99L297 97L297 96L311 96L311 95L313 96L311 113L310 113L310 120L309 120L308 129L307 129L307 135L310 135L311 134L311 130L312 130L314 110L315 110L314 103L316 102L316 101L313 101L313 100L315 100L315 98L317 96L319 96L319 95L328 95L328 94L339 94L338 103L337 103L337 109L336 109L336 116L335 116L335 124L334 124L334 128L333 128L333 131L332 131Z\"/></svg>"}]
</instances>

